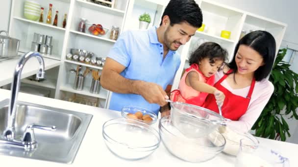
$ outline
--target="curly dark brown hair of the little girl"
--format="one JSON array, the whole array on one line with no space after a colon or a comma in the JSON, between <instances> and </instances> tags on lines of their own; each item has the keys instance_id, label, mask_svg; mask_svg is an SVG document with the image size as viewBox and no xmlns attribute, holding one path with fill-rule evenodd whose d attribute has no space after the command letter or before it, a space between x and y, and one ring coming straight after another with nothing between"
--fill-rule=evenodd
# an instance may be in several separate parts
<instances>
[{"instance_id":1,"label":"curly dark brown hair of the little girl","mask_svg":"<svg viewBox=\"0 0 298 167\"><path fill-rule=\"evenodd\" d=\"M225 61L227 51L215 42L204 42L191 54L189 65L199 63L204 58L209 58L210 63L215 63L217 60Z\"/></svg>"}]
</instances>

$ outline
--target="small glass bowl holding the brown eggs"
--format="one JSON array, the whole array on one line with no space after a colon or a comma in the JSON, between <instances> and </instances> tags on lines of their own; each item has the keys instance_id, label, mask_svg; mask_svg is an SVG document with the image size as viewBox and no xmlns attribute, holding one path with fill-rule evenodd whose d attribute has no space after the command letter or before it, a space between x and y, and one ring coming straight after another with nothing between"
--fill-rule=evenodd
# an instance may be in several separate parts
<instances>
[{"instance_id":1,"label":"small glass bowl holding the brown eggs","mask_svg":"<svg viewBox=\"0 0 298 167\"><path fill-rule=\"evenodd\" d=\"M142 120L142 119L140 119L140 117L134 118L134 117L129 117L128 116L128 114L134 114L135 115L136 112L141 112L142 116L149 115L152 120L151 121L150 120ZM150 111L146 108L142 108L142 107L139 107L139 106L124 106L122 108L121 115L122 115L123 118L134 119L134 120L140 121L140 122L145 123L145 124L154 124L157 121L157 115L153 111Z\"/></svg>"}]
</instances>

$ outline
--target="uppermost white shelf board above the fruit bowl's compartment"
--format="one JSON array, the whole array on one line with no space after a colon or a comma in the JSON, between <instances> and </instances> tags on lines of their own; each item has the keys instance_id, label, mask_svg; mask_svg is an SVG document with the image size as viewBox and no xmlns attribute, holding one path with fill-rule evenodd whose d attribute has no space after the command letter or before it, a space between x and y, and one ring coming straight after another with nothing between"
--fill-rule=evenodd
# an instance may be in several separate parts
<instances>
[{"instance_id":1,"label":"uppermost white shelf board above the fruit bowl's compartment","mask_svg":"<svg viewBox=\"0 0 298 167\"><path fill-rule=\"evenodd\" d=\"M119 9L110 8L110 7L103 6L103 5L96 4L96 3L92 3L92 2L87 2L85 0L76 0L76 1L85 8L89 8L89 9L93 9L93 10L99 10L99 11L102 11L104 13L109 13L109 14L112 14L112 15L124 16L124 13L125 13L124 11L119 10Z\"/></svg>"}]
</instances>

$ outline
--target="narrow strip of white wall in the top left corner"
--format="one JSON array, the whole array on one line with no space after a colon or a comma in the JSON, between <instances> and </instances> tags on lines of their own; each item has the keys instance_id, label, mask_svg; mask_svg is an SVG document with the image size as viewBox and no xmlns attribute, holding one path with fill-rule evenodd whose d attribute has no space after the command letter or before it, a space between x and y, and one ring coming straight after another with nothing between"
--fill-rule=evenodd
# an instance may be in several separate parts
<instances>
[{"instance_id":1,"label":"narrow strip of white wall in the top left corner","mask_svg":"<svg viewBox=\"0 0 298 167\"><path fill-rule=\"evenodd\" d=\"M1 0L1 5L0 5L0 30L8 31L11 1L12 0Z\"/></svg>"}]
</instances>

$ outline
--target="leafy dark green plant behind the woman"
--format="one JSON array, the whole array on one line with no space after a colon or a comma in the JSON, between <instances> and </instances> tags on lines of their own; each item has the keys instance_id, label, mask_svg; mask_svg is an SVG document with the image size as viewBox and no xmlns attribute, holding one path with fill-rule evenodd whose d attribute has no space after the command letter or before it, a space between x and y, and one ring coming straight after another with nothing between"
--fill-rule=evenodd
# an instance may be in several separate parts
<instances>
[{"instance_id":1,"label":"leafy dark green plant behind the woman","mask_svg":"<svg viewBox=\"0 0 298 167\"><path fill-rule=\"evenodd\" d=\"M290 64L282 61L286 52L287 49L279 49L273 64L269 81L274 85L274 92L251 128L256 130L256 136L285 141L286 134L288 137L291 134L284 117L291 114L290 118L298 120L298 74L289 69Z\"/></svg>"}]
</instances>

